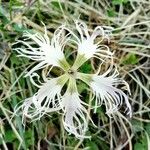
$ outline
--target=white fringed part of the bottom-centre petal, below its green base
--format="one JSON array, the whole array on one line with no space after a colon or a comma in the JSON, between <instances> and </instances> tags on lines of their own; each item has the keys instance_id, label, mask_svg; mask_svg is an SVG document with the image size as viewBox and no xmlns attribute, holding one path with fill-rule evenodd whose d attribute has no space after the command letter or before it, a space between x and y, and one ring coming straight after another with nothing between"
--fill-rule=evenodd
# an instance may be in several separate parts
<instances>
[{"instance_id":1,"label":"white fringed part of the bottom-centre petal, below its green base","mask_svg":"<svg viewBox=\"0 0 150 150\"><path fill-rule=\"evenodd\" d=\"M64 110L64 128L77 138L89 138L85 136L88 127L88 122L86 120L88 112L83 106L79 94L77 92L66 92L62 98L61 107Z\"/></svg>"}]
</instances>

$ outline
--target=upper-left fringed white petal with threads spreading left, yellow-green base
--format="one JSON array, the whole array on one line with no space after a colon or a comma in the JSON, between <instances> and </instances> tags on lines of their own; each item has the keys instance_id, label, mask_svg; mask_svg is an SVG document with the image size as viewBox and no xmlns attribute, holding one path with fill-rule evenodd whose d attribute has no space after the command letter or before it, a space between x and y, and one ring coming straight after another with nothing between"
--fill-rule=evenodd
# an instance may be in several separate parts
<instances>
[{"instance_id":1,"label":"upper-left fringed white petal with threads spreading left, yellow-green base","mask_svg":"<svg viewBox=\"0 0 150 150\"><path fill-rule=\"evenodd\" d=\"M63 31L63 26L59 27L55 31L51 41L47 35L46 27L44 36L40 33L24 33L24 37L33 40L33 42L19 40L18 42L23 43L25 48L16 48L14 50L20 54L19 56L27 57L39 62L26 74L26 76L30 76L36 70L47 66L58 66L63 70L69 68L69 64L66 62L63 53L64 45L69 37L68 35L63 36Z\"/></svg>"}]
</instances>

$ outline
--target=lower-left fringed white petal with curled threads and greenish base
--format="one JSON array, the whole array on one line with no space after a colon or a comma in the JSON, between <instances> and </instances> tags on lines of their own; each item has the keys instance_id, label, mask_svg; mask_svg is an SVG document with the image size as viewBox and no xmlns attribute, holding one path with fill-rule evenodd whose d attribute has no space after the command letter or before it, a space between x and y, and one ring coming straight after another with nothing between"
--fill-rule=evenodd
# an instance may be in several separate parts
<instances>
[{"instance_id":1,"label":"lower-left fringed white petal with curled threads and greenish base","mask_svg":"<svg viewBox=\"0 0 150 150\"><path fill-rule=\"evenodd\" d=\"M31 119L40 119L44 114L60 110L61 90L66 82L67 78L61 76L43 83L38 92L20 106L23 109L23 115Z\"/></svg>"}]
</instances>

